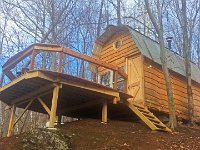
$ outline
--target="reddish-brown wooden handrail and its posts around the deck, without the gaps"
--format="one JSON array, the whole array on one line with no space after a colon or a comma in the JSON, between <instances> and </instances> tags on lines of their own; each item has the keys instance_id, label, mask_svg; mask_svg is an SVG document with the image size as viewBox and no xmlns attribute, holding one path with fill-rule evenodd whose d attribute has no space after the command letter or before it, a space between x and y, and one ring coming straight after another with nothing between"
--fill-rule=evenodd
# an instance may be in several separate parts
<instances>
[{"instance_id":1,"label":"reddish-brown wooden handrail and its posts around the deck, without the gaps","mask_svg":"<svg viewBox=\"0 0 200 150\"><path fill-rule=\"evenodd\" d=\"M33 44L32 46L29 46L26 49L26 51L21 54L20 59L16 59L14 61L10 61L10 60L7 61L6 65L4 65L3 68L2 68L2 70L3 70L2 75L6 75L10 78L10 80L13 80L15 78L15 76L12 74L11 69L14 68L14 66L17 65L20 62L20 60L23 60L25 57L27 57L27 55L28 56L31 55L31 60L30 60L30 62L28 62L28 63L30 63L29 69L35 70L34 69L35 58L36 58L36 55L40 51L59 52L60 56L59 56L59 64L58 64L58 70L57 70L57 72L59 72L59 73L62 73L63 54L84 60L86 62L89 62L91 64L95 64L95 65L100 66L100 67L104 67L104 68L109 69L109 70L112 70L113 73L114 73L113 88L117 89L118 76L120 75L124 79L124 92L127 92L127 78L128 78L128 76L118 66L114 66L112 64L109 64L107 62L93 58L91 56L76 52L74 50L71 50L70 48L62 47L62 46L58 46L58 45L52 45L52 44ZM16 54L16 55L18 55L18 54ZM11 58L11 59L14 59L14 57Z\"/></svg>"}]
</instances>

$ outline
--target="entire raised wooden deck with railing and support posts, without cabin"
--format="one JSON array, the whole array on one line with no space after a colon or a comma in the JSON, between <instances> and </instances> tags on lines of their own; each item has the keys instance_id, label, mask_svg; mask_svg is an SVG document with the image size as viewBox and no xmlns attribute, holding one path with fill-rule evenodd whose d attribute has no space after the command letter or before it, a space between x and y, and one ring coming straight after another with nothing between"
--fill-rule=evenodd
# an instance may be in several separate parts
<instances>
[{"instance_id":1,"label":"entire raised wooden deck with railing and support posts, without cabin","mask_svg":"<svg viewBox=\"0 0 200 150\"><path fill-rule=\"evenodd\" d=\"M71 63L71 57L84 64L82 77L80 66ZM109 87L102 84L100 69L104 70L101 73L110 72ZM128 76L119 67L58 45L33 44L10 58L2 70L0 100L12 108L7 136L12 135L27 110L48 114L49 127L54 127L56 116L60 115L100 114L102 121L107 122L108 105L132 97L126 93ZM15 118L17 107L24 108L24 112Z\"/></svg>"}]
</instances>

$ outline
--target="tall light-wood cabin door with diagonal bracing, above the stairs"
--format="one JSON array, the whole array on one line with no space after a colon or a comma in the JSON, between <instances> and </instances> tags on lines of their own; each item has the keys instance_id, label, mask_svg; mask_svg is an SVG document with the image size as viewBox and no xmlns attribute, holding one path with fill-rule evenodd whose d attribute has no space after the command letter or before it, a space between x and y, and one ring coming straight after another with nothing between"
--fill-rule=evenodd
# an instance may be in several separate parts
<instances>
[{"instance_id":1,"label":"tall light-wood cabin door with diagonal bracing, above the stairs","mask_svg":"<svg viewBox=\"0 0 200 150\"><path fill-rule=\"evenodd\" d=\"M133 101L143 104L143 64L142 57L127 58L128 93L133 96Z\"/></svg>"}]
</instances>

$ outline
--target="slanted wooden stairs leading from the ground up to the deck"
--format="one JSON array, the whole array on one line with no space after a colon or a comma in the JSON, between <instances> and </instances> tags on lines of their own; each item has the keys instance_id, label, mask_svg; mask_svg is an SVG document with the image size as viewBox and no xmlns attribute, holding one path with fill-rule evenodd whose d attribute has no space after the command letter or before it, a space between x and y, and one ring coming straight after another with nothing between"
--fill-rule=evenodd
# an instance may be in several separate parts
<instances>
[{"instance_id":1,"label":"slanted wooden stairs leading from the ground up to the deck","mask_svg":"<svg viewBox=\"0 0 200 150\"><path fill-rule=\"evenodd\" d=\"M152 130L172 132L147 108L134 102L125 101L124 103Z\"/></svg>"}]
</instances>

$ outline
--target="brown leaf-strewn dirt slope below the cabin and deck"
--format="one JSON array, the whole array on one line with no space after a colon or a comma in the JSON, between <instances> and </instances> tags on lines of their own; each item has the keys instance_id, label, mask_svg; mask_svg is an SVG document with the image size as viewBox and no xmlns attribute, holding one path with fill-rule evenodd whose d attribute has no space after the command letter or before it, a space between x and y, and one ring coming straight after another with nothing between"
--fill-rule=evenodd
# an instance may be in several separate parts
<instances>
[{"instance_id":1,"label":"brown leaf-strewn dirt slope below the cabin and deck","mask_svg":"<svg viewBox=\"0 0 200 150\"><path fill-rule=\"evenodd\" d=\"M73 150L200 150L200 128L180 126L176 132L151 131L141 122L85 119L60 127L72 136ZM24 134L0 139L0 150L21 150Z\"/></svg>"}]
</instances>

